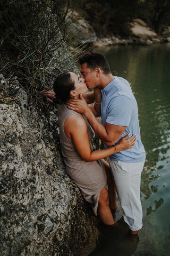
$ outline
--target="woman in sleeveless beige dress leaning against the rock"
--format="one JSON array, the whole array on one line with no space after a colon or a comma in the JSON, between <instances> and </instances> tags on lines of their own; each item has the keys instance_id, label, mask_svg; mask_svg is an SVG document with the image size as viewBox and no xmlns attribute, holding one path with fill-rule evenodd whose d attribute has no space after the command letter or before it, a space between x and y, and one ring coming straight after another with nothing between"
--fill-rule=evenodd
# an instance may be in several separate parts
<instances>
[{"instance_id":1,"label":"woman in sleeveless beige dress leaning against the rock","mask_svg":"<svg viewBox=\"0 0 170 256\"><path fill-rule=\"evenodd\" d=\"M110 175L109 167L101 159L134 146L136 137L132 136L128 140L128 135L123 137L116 145L116 151L115 146L93 151L90 144L93 131L88 121L83 115L69 110L66 105L68 99L78 99L80 93L85 94L88 91L85 80L76 73L63 73L56 78L53 89L56 95L53 102L59 104L59 136L66 172L80 188L85 200L91 203L94 214L98 215L104 224L112 225L115 222L110 210L106 177L106 172ZM42 94L53 98L48 92ZM93 111L97 113L97 110ZM116 209L113 184L110 184L110 188L111 206Z\"/></svg>"}]
</instances>

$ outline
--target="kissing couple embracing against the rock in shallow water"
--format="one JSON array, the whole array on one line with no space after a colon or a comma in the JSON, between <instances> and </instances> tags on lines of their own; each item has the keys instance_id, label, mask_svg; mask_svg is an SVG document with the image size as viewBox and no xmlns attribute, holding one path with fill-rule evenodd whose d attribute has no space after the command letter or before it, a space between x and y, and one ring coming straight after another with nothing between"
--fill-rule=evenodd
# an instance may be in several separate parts
<instances>
[{"instance_id":1,"label":"kissing couple embracing against the rock in shallow water","mask_svg":"<svg viewBox=\"0 0 170 256\"><path fill-rule=\"evenodd\" d=\"M112 210L118 208L117 192L124 221L134 235L142 228L140 182L145 161L137 102L127 80L111 74L101 53L87 53L79 64L81 77L72 72L60 74L53 91L42 92L58 105L66 172L94 214L110 227L115 225ZM102 123L96 119L99 116ZM104 149L93 151L93 131ZM108 156L109 163L103 160Z\"/></svg>"}]
</instances>

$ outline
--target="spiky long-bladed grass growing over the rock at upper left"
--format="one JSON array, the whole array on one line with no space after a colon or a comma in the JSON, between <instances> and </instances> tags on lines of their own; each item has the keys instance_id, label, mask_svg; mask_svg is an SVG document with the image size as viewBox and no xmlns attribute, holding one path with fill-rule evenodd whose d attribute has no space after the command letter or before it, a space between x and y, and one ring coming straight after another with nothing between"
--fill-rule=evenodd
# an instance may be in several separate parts
<instances>
[{"instance_id":1,"label":"spiky long-bladed grass growing over the rock at upper left","mask_svg":"<svg viewBox=\"0 0 170 256\"><path fill-rule=\"evenodd\" d=\"M43 104L39 91L73 65L65 44L68 5L61 13L58 0L1 0L0 10L0 71L16 75L34 104Z\"/></svg>"}]
</instances>

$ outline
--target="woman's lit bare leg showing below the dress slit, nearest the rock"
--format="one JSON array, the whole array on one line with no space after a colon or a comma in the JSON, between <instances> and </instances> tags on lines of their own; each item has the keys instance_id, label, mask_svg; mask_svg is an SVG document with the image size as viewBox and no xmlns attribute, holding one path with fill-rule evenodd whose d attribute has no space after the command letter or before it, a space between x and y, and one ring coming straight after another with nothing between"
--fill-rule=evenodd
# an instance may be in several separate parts
<instances>
[{"instance_id":1,"label":"woman's lit bare leg showing below the dress slit, nearest the rock","mask_svg":"<svg viewBox=\"0 0 170 256\"><path fill-rule=\"evenodd\" d=\"M109 206L109 194L106 188L103 188L100 192L97 213L104 224L113 225L115 223L113 216L111 214Z\"/></svg>"}]
</instances>

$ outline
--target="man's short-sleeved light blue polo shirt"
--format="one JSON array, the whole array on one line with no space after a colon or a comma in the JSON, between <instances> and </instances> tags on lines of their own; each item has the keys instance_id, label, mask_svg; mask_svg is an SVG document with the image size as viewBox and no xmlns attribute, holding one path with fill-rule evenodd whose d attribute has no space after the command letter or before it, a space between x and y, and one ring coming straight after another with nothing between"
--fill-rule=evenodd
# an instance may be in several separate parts
<instances>
[{"instance_id":1,"label":"man's short-sleeved light blue polo shirt","mask_svg":"<svg viewBox=\"0 0 170 256\"><path fill-rule=\"evenodd\" d=\"M141 142L137 102L126 79L115 76L115 79L102 89L101 111L104 126L106 122L126 126L127 128L121 137L128 133L131 136L135 133L137 135L135 146L110 155L110 159L127 163L143 162L145 160L145 150Z\"/></svg>"}]
</instances>

